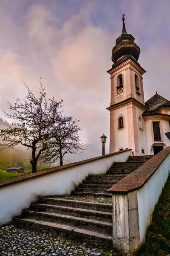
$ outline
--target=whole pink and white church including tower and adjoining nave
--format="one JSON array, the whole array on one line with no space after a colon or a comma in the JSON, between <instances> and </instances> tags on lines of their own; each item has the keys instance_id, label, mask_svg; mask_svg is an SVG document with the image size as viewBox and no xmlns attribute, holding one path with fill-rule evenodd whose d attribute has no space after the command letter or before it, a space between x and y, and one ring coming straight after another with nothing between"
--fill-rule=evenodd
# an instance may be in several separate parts
<instances>
[{"instance_id":1,"label":"whole pink and white church including tower and adjoining nave","mask_svg":"<svg viewBox=\"0 0 170 256\"><path fill-rule=\"evenodd\" d=\"M153 155L170 146L170 101L159 94L144 102L143 77L138 62L140 48L127 34L125 15L122 34L112 50L110 153L132 148L133 155Z\"/></svg>"}]
</instances>

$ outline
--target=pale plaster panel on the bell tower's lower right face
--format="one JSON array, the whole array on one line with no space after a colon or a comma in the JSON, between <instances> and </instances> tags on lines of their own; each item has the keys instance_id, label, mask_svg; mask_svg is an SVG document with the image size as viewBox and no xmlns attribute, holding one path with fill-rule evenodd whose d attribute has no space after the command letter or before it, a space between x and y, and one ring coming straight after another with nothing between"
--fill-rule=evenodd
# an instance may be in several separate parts
<instances>
[{"instance_id":1,"label":"pale plaster panel on the bell tower's lower right face","mask_svg":"<svg viewBox=\"0 0 170 256\"><path fill-rule=\"evenodd\" d=\"M137 132L138 132L138 142L139 142L139 154L144 155L147 153L147 140L146 140L146 129L145 122L142 117L143 110L136 107L136 120L137 120ZM142 119L141 124L140 120ZM142 149L144 149L144 154L142 154Z\"/></svg>"}]
</instances>

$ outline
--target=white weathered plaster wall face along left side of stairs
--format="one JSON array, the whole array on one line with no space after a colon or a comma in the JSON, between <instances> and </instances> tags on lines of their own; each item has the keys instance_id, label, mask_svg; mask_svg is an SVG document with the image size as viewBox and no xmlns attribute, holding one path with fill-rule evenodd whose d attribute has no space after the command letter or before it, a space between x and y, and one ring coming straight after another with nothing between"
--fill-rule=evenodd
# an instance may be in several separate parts
<instances>
[{"instance_id":1,"label":"white weathered plaster wall face along left side of stairs","mask_svg":"<svg viewBox=\"0 0 170 256\"><path fill-rule=\"evenodd\" d=\"M121 151L88 163L57 170L28 180L0 187L0 226L20 215L22 209L40 195L64 195L72 190L89 174L105 173L113 162L125 162L131 150Z\"/></svg>"}]
</instances>

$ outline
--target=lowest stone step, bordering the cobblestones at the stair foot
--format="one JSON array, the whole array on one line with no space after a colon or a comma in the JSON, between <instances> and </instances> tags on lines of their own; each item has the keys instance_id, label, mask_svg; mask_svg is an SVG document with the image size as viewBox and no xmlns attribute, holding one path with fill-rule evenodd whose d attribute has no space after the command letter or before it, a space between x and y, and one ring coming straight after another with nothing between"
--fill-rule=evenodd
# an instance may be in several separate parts
<instances>
[{"instance_id":1,"label":"lowest stone step, bordering the cobblestones at the stair foot","mask_svg":"<svg viewBox=\"0 0 170 256\"><path fill-rule=\"evenodd\" d=\"M37 219L29 218L13 218L13 222L17 225L21 225L30 229L36 229L41 232L50 232L54 235L66 236L71 239L79 239L83 243L88 244L99 244L99 245L108 245L112 247L112 235L95 232L92 230L84 230L74 226L57 224L50 221L39 221Z\"/></svg>"}]
</instances>

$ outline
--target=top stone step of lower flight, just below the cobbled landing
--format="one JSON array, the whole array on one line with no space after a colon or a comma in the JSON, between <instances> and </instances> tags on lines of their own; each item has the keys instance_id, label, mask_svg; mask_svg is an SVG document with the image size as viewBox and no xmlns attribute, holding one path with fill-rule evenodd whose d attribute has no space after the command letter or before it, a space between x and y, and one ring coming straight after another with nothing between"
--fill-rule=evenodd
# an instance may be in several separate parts
<instances>
[{"instance_id":1,"label":"top stone step of lower flight, just below the cobbled landing","mask_svg":"<svg viewBox=\"0 0 170 256\"><path fill-rule=\"evenodd\" d=\"M103 211L103 212L112 212L112 204L101 204L101 203L85 202L85 201L78 201L78 200L79 200L78 197L77 197L77 201L66 200L66 199L61 199L61 198L42 197L42 198L38 199L37 203L53 204L53 205L60 205L60 206L65 206L65 207L91 209L91 210Z\"/></svg>"}]
</instances>

